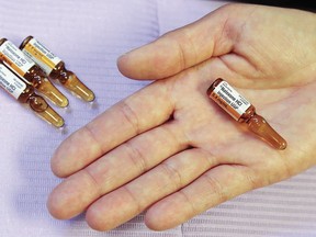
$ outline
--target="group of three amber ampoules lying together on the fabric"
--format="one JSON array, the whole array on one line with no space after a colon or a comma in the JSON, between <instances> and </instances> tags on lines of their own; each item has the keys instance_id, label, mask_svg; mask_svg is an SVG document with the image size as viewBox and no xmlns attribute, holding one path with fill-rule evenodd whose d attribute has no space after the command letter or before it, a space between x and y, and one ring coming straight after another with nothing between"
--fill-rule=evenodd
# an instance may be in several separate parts
<instances>
[{"instance_id":1,"label":"group of three amber ampoules lying together on the fabric","mask_svg":"<svg viewBox=\"0 0 316 237\"><path fill-rule=\"evenodd\" d=\"M49 79L59 81L84 101L94 100L93 92L66 69L65 63L33 36L26 37L20 48L7 38L0 40L0 87L19 102L27 103L46 122L61 127L64 119L35 92L57 106L67 108L68 99Z\"/></svg>"}]
</instances>

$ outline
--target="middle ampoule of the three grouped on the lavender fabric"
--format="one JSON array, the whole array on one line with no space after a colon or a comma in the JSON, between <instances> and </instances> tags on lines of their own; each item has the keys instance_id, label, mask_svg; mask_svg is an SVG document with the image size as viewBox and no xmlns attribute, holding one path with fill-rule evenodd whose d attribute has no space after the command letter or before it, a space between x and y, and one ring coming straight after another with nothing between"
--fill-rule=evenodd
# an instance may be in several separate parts
<instances>
[{"instance_id":1,"label":"middle ampoule of the three grouped on the lavender fabric","mask_svg":"<svg viewBox=\"0 0 316 237\"><path fill-rule=\"evenodd\" d=\"M68 99L48 80L44 71L7 38L0 40L0 59L53 103L61 108L68 105Z\"/></svg>"}]
</instances>

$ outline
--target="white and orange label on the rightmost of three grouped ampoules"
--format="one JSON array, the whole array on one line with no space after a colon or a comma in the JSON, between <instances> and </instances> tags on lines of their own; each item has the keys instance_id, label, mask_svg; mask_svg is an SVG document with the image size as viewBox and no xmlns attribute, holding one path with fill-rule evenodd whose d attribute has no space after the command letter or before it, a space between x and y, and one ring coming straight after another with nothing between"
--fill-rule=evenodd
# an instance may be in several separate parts
<instances>
[{"instance_id":1,"label":"white and orange label on the rightmost of three grouped ampoules","mask_svg":"<svg viewBox=\"0 0 316 237\"><path fill-rule=\"evenodd\" d=\"M37 40L32 38L22 49L25 55L32 58L45 72L49 75L57 64L61 61L49 49Z\"/></svg>"}]
</instances>

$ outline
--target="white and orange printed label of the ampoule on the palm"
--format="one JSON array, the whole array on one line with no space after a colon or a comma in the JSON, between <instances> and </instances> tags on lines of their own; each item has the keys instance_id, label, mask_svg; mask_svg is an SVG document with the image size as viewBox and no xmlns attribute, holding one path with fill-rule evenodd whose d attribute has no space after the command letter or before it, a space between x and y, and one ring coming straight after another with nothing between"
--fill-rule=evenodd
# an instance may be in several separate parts
<instances>
[{"instance_id":1,"label":"white and orange printed label of the ampoule on the palm","mask_svg":"<svg viewBox=\"0 0 316 237\"><path fill-rule=\"evenodd\" d=\"M222 81L217 84L210 97L236 121L238 121L251 105L249 101L240 95L226 81Z\"/></svg>"}]
</instances>

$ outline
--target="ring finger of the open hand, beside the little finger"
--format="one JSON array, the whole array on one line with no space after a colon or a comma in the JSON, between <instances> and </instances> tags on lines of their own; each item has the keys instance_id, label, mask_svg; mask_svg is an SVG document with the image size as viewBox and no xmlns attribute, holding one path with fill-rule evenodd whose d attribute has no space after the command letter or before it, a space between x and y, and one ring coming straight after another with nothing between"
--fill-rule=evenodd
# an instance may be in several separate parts
<instances>
[{"instance_id":1,"label":"ring finger of the open hand, beside the little finger","mask_svg":"<svg viewBox=\"0 0 316 237\"><path fill-rule=\"evenodd\" d=\"M87 211L87 222L98 230L112 229L216 165L217 159L201 149L182 151L95 201Z\"/></svg>"}]
</instances>

